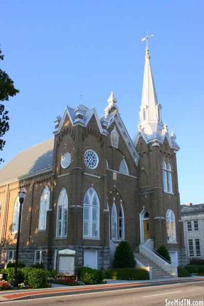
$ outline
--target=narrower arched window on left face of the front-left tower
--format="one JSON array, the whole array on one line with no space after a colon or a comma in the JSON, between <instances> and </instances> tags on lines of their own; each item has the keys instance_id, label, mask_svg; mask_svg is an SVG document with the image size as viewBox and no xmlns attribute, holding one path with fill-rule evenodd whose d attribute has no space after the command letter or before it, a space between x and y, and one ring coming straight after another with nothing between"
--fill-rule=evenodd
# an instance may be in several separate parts
<instances>
[{"instance_id":1,"label":"narrower arched window on left face of the front-left tower","mask_svg":"<svg viewBox=\"0 0 204 306\"><path fill-rule=\"evenodd\" d=\"M56 237L67 237L68 196L63 187L58 197Z\"/></svg>"}]
</instances>

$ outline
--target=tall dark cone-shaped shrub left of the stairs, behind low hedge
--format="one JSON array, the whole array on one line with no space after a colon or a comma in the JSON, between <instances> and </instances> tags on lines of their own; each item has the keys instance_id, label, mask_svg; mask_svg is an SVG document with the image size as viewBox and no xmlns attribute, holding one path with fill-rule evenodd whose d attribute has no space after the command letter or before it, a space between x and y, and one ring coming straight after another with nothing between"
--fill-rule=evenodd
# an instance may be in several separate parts
<instances>
[{"instance_id":1,"label":"tall dark cone-shaped shrub left of the stairs, behind low hedge","mask_svg":"<svg viewBox=\"0 0 204 306\"><path fill-rule=\"evenodd\" d=\"M135 263L135 256L131 245L127 241L121 241L115 251L113 267L134 268Z\"/></svg>"}]
</instances>

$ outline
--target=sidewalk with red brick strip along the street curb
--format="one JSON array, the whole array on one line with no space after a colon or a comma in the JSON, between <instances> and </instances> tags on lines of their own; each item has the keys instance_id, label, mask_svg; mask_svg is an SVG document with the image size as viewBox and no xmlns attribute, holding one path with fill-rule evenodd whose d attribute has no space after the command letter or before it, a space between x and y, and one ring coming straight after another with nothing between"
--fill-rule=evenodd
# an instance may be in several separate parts
<instances>
[{"instance_id":1,"label":"sidewalk with red brick strip along the street curb","mask_svg":"<svg viewBox=\"0 0 204 306\"><path fill-rule=\"evenodd\" d=\"M52 284L50 288L44 289L33 289L33 290L9 290L0 291L0 302L11 301L11 300L25 300L34 298L43 298L51 296L61 296L79 293L89 292L103 292L109 290L129 289L134 287L146 287L156 286L163 284L172 283L184 283L204 280L203 276L192 276L192 277L177 277L177 278L162 278L156 280L138 280L138 281L124 281L124 280L109 280L107 279L106 284L99 285L85 285L85 286L64 286L58 284Z\"/></svg>"}]
</instances>

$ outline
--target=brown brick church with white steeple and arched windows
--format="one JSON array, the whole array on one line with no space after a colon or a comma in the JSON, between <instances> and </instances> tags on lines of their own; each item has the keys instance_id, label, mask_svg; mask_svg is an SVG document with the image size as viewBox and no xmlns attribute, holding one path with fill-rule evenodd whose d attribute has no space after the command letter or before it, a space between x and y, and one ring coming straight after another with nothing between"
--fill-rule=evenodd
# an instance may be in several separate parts
<instances>
[{"instance_id":1,"label":"brown brick church with white steeple and arched windows","mask_svg":"<svg viewBox=\"0 0 204 306\"><path fill-rule=\"evenodd\" d=\"M138 104L139 110L139 104ZM137 112L137 109L135 110ZM1 262L15 260L21 187L20 261L54 268L61 249L80 266L105 269L127 240L135 252L152 241L184 261L174 130L162 122L148 46L138 131L131 139L112 92L102 116L66 107L54 137L17 154L0 170Z\"/></svg>"}]
</instances>

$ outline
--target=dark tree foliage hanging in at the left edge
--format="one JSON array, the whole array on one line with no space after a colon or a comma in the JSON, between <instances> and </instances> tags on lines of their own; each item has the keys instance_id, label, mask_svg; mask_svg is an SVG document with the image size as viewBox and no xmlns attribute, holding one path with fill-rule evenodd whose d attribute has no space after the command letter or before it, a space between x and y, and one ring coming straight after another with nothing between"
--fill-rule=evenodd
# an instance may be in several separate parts
<instances>
[{"instance_id":1,"label":"dark tree foliage hanging in at the left edge","mask_svg":"<svg viewBox=\"0 0 204 306\"><path fill-rule=\"evenodd\" d=\"M4 55L2 55L2 50L0 49L0 60L4 60ZM9 117L8 111L5 110L5 105L3 101L9 101L9 97L15 96L19 93L18 89L15 89L13 81L7 75L6 71L0 68L0 150L2 151L6 141L3 136L9 130ZM3 158L0 158L0 163Z\"/></svg>"}]
</instances>

